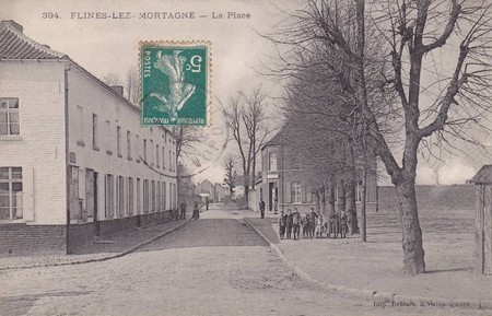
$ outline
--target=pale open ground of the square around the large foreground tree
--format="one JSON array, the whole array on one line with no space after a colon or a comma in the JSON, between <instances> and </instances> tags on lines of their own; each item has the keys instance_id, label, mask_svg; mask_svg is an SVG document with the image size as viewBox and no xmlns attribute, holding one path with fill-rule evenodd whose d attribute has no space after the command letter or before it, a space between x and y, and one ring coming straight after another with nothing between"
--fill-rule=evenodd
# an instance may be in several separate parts
<instances>
[{"instance_id":1,"label":"pale open ground of the square around the large foreground tree","mask_svg":"<svg viewBox=\"0 0 492 316\"><path fill-rule=\"evenodd\" d=\"M326 288L367 290L368 295L376 292L375 301L377 293L389 293L429 302L470 300L477 306L492 308L492 276L472 271L472 212L421 211L427 273L415 277L401 272L403 258L397 213L368 214L367 243L360 242L356 235L344 239L280 241L277 216L267 214L267 219L259 219L255 212L245 212L244 216L278 246L288 264L309 279L329 285ZM380 300L387 299L383 296Z\"/></svg>"}]
</instances>

